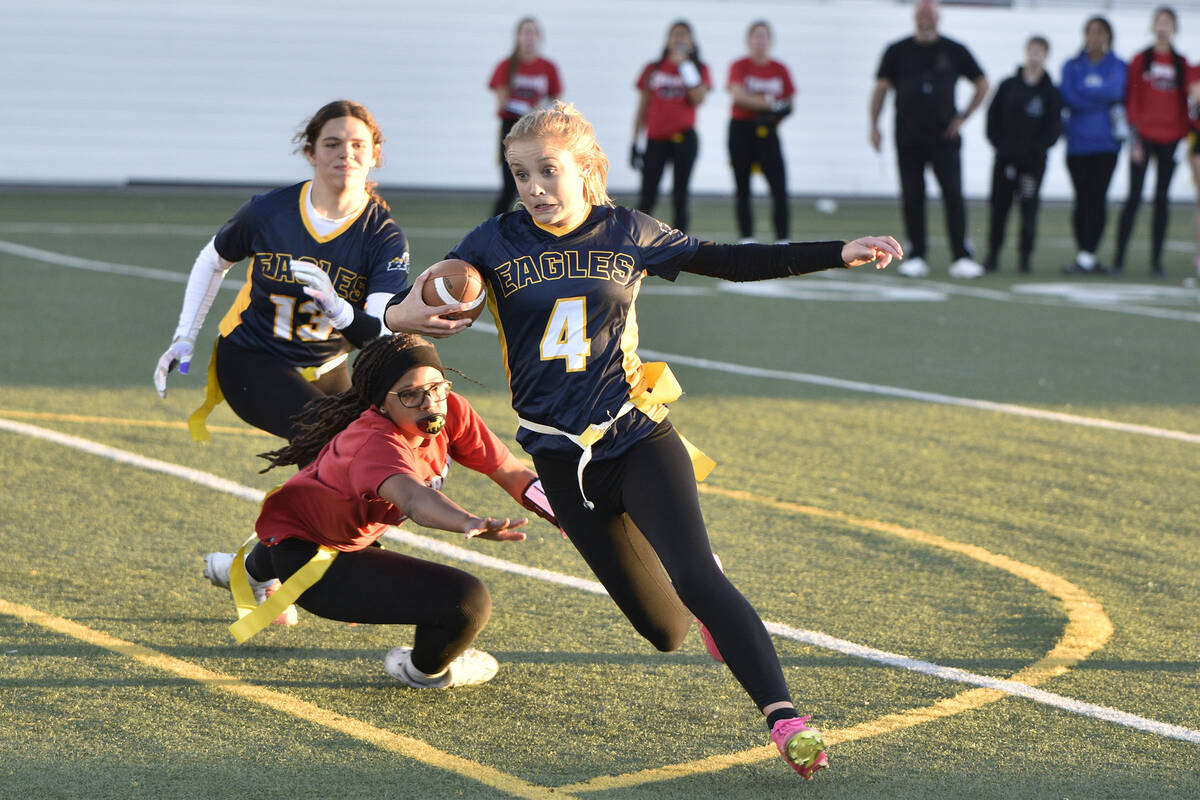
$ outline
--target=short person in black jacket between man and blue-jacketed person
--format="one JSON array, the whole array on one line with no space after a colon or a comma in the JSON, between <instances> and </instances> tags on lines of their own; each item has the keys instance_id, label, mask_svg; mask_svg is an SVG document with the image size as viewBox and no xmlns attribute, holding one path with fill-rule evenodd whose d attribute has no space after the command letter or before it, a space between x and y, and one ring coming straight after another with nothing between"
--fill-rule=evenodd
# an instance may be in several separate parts
<instances>
[{"instance_id":1,"label":"short person in black jacket between man and blue-jacketed person","mask_svg":"<svg viewBox=\"0 0 1200 800\"><path fill-rule=\"evenodd\" d=\"M1050 43L1031 36L1025 64L1000 84L988 107L988 140L996 149L991 170L991 225L984 269L996 269L1013 196L1021 207L1018 270L1030 271L1038 225L1038 196L1046 170L1046 151L1062 133L1062 97L1046 74Z\"/></svg>"}]
</instances>

